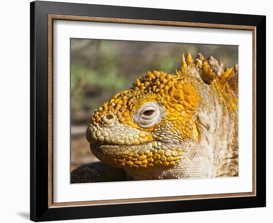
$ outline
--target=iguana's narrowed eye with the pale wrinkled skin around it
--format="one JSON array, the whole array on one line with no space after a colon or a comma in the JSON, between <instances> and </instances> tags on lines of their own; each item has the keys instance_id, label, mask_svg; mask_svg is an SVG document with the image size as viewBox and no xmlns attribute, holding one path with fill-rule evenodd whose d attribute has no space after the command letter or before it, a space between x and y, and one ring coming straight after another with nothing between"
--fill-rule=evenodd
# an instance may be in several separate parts
<instances>
[{"instance_id":1,"label":"iguana's narrowed eye with the pale wrinkled skin around it","mask_svg":"<svg viewBox=\"0 0 273 223\"><path fill-rule=\"evenodd\" d=\"M161 105L155 102L148 102L133 114L133 118L139 126L150 127L160 121L163 114L164 109Z\"/></svg>"}]
</instances>

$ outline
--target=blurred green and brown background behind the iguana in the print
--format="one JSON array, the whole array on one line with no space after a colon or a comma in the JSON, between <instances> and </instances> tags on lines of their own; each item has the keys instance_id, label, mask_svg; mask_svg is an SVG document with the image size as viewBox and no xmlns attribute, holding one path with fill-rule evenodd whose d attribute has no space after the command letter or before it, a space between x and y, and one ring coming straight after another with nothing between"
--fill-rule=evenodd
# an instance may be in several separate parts
<instances>
[{"instance_id":1,"label":"blurred green and brown background behind the iguana in the print","mask_svg":"<svg viewBox=\"0 0 273 223\"><path fill-rule=\"evenodd\" d=\"M174 72L180 56L213 56L225 66L238 63L238 46L116 40L70 40L71 169L93 162L85 129L92 112L147 71Z\"/></svg>"}]
</instances>

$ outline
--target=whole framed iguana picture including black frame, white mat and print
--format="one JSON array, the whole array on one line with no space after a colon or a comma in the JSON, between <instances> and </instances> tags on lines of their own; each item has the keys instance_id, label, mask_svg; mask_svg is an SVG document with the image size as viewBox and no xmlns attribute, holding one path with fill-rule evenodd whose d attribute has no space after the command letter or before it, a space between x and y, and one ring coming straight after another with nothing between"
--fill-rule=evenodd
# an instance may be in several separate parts
<instances>
[{"instance_id":1,"label":"whole framed iguana picture including black frame, white mat and print","mask_svg":"<svg viewBox=\"0 0 273 223\"><path fill-rule=\"evenodd\" d=\"M266 206L266 16L30 13L32 221Z\"/></svg>"}]
</instances>

